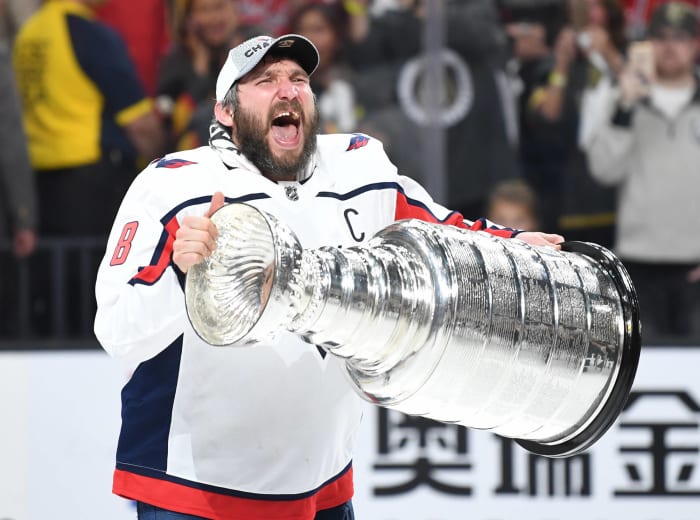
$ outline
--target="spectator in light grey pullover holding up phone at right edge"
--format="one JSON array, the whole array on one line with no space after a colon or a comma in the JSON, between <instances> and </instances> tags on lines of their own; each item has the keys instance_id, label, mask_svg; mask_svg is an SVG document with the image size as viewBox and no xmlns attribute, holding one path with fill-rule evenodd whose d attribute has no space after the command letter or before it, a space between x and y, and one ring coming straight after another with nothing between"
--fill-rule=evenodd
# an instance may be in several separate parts
<instances>
[{"instance_id":1,"label":"spectator in light grey pullover holding up phone at right edge","mask_svg":"<svg viewBox=\"0 0 700 520\"><path fill-rule=\"evenodd\" d=\"M624 68L588 146L593 175L617 188L614 247L639 293L647 343L693 332L700 266L696 12L663 4L649 33L655 78Z\"/></svg>"}]
</instances>

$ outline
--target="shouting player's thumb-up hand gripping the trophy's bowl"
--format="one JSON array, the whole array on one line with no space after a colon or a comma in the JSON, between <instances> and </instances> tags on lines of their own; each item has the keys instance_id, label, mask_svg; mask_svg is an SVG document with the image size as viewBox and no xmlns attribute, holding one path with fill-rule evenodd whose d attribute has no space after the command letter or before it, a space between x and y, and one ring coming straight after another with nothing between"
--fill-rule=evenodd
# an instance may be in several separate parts
<instances>
[{"instance_id":1,"label":"shouting player's thumb-up hand gripping the trophy's bowl","mask_svg":"<svg viewBox=\"0 0 700 520\"><path fill-rule=\"evenodd\" d=\"M204 215L187 215L182 219L173 242L173 262L183 273L208 258L216 249L219 232L210 217L223 205L224 194L217 191Z\"/></svg>"}]
</instances>

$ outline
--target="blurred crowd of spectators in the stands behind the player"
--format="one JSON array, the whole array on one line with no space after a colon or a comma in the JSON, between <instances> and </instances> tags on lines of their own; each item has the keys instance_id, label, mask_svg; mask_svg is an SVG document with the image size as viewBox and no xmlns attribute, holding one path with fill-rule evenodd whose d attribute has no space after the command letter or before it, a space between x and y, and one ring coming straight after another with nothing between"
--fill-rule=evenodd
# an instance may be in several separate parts
<instances>
[{"instance_id":1,"label":"blurred crowd of spectators in the stands behind the player","mask_svg":"<svg viewBox=\"0 0 700 520\"><path fill-rule=\"evenodd\" d=\"M320 51L311 83L323 132L379 138L400 172L427 184L423 130L437 120L441 203L612 249L637 286L645 341L700 343L696 3L440 2L437 118L425 108L429 7L0 0L0 336L50 337L56 306L68 307L68 336L91 334L92 295L79 304L75 288L94 281L128 185L151 160L207 144L229 48L295 32ZM94 250L61 256L61 302L55 249L41 246L85 237ZM24 332L12 318L20 300Z\"/></svg>"}]
</instances>

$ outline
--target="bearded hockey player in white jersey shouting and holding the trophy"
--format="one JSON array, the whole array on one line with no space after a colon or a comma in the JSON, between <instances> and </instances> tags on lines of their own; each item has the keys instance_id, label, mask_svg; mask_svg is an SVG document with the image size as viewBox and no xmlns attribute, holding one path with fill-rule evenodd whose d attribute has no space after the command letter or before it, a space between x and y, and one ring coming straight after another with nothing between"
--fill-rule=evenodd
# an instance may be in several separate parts
<instances>
[{"instance_id":1,"label":"bearded hockey player in white jersey shouting and holding the trophy","mask_svg":"<svg viewBox=\"0 0 700 520\"><path fill-rule=\"evenodd\" d=\"M114 493L140 519L350 520L362 401L342 361L287 331L254 347L207 345L185 307L185 273L215 249L209 218L246 202L304 248L361 244L420 218L536 245L558 235L467 221L398 175L379 141L317 135L298 35L232 49L216 87L209 146L154 161L116 216L100 266L95 333L129 365Z\"/></svg>"}]
</instances>

